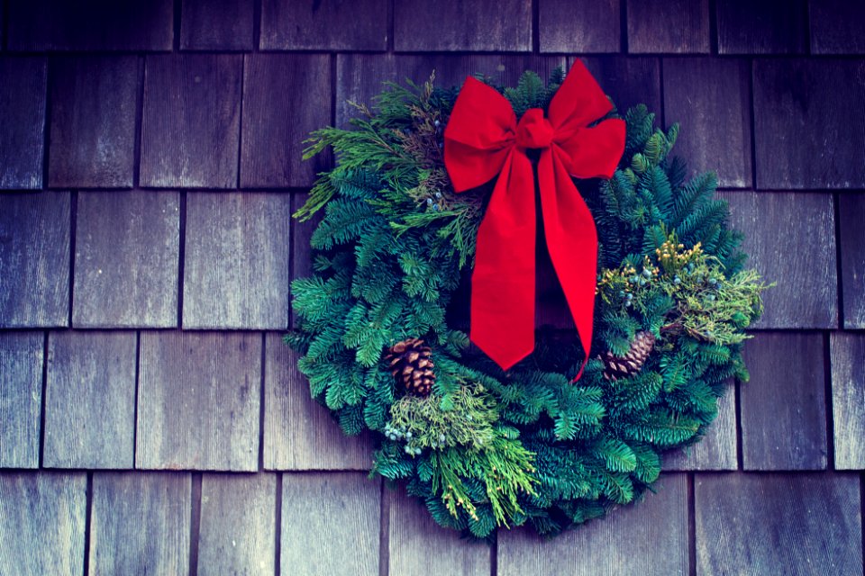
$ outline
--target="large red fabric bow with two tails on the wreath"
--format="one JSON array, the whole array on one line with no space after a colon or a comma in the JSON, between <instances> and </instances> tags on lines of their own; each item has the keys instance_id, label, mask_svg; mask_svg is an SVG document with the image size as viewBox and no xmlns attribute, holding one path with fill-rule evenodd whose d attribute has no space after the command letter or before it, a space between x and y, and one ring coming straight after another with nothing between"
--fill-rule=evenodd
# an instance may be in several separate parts
<instances>
[{"instance_id":1,"label":"large red fabric bow with two tails on the wreath","mask_svg":"<svg viewBox=\"0 0 865 576\"><path fill-rule=\"evenodd\" d=\"M505 97L467 78L444 132L444 163L454 190L499 175L478 229L471 287L471 339L507 370L534 349L534 175L552 265L588 356L595 311L595 221L571 175L609 178L624 151L624 121L592 121L613 108L595 78L574 63L548 116L532 108L519 123ZM585 360L583 366L585 366ZM579 375L582 374L580 367Z\"/></svg>"}]
</instances>

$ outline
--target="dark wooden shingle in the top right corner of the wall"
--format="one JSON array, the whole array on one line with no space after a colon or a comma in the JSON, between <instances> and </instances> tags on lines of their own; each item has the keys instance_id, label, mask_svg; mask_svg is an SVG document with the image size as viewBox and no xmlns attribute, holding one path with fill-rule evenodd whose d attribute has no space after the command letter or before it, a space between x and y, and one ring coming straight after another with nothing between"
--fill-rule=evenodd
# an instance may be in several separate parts
<instances>
[{"instance_id":1,"label":"dark wooden shingle in the top right corner of the wall","mask_svg":"<svg viewBox=\"0 0 865 576\"><path fill-rule=\"evenodd\" d=\"M809 0L808 23L814 54L865 53L865 2Z\"/></svg>"}]
</instances>

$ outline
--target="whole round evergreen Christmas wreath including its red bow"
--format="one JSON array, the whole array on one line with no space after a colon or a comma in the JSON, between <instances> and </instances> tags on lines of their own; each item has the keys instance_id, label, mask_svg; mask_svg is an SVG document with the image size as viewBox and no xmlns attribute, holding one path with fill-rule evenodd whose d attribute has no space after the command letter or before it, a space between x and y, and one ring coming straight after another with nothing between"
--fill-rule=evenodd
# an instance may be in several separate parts
<instances>
[{"instance_id":1,"label":"whole round evergreen Christmas wreath including its red bow","mask_svg":"<svg viewBox=\"0 0 865 576\"><path fill-rule=\"evenodd\" d=\"M287 336L314 398L372 432L373 474L471 536L638 499L747 379L764 285L715 175L687 180L678 125L621 116L579 62L514 88L388 83L357 108L305 151L336 153L296 214L323 209ZM576 330L535 329L543 247Z\"/></svg>"}]
</instances>

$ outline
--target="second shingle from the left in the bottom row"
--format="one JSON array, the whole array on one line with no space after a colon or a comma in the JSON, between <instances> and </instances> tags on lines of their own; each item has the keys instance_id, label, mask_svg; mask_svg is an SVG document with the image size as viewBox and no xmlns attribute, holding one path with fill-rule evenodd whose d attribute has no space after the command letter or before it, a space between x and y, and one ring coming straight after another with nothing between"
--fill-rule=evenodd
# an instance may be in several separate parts
<instances>
[{"instance_id":1,"label":"second shingle from the left in the bottom row","mask_svg":"<svg viewBox=\"0 0 865 576\"><path fill-rule=\"evenodd\" d=\"M192 477L94 473L91 574L187 574Z\"/></svg>"}]
</instances>

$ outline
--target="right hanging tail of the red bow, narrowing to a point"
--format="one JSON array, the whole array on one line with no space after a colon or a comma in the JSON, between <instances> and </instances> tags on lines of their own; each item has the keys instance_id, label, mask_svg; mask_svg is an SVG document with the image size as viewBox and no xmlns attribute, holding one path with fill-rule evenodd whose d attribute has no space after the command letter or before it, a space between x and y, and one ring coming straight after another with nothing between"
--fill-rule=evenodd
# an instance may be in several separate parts
<instances>
[{"instance_id":1,"label":"right hanging tail of the red bow, narrowing to a point","mask_svg":"<svg viewBox=\"0 0 865 576\"><path fill-rule=\"evenodd\" d=\"M538 164L544 234L552 266L577 327L586 356L574 380L583 374L592 345L595 314L597 231L592 213L570 179L560 152L549 148Z\"/></svg>"}]
</instances>

